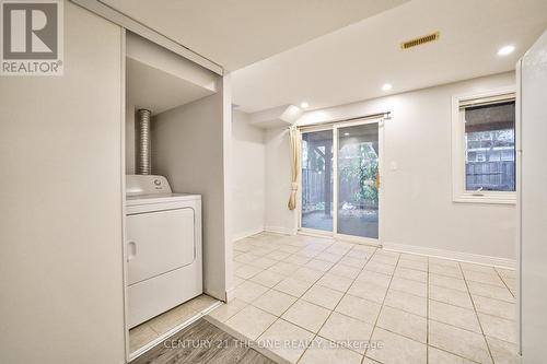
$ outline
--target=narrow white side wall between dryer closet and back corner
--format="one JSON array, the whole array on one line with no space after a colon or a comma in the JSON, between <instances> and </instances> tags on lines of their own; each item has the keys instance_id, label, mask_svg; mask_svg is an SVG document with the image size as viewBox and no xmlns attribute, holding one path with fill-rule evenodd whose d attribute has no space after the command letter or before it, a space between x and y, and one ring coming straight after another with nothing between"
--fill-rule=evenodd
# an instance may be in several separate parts
<instances>
[{"instance_id":1,"label":"narrow white side wall between dryer closet and back corner","mask_svg":"<svg viewBox=\"0 0 547 364\"><path fill-rule=\"evenodd\" d=\"M232 239L264 231L266 146L264 129L252 126L248 114L232 119Z\"/></svg>"}]
</instances>

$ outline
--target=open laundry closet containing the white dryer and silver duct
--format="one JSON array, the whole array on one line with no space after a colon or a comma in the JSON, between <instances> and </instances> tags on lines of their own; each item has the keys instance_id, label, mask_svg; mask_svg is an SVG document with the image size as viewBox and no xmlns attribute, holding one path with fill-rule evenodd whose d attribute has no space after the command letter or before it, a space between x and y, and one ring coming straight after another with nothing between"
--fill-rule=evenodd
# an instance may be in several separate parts
<instances>
[{"instance_id":1,"label":"open laundry closet containing the white dryer and silver duct","mask_svg":"<svg viewBox=\"0 0 547 364\"><path fill-rule=\"evenodd\" d=\"M226 300L223 79L126 31L127 359Z\"/></svg>"}]
</instances>

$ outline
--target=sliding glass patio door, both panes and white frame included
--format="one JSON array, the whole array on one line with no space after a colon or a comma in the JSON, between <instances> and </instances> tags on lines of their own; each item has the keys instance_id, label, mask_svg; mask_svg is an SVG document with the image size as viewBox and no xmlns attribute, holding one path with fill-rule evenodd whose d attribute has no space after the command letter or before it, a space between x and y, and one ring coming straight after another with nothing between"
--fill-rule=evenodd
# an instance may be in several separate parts
<instances>
[{"instance_id":1,"label":"sliding glass patio door, both panes and white frame included","mask_svg":"<svg viewBox=\"0 0 547 364\"><path fill-rule=\"evenodd\" d=\"M379 244L381 118L301 130L300 230Z\"/></svg>"}]
</instances>

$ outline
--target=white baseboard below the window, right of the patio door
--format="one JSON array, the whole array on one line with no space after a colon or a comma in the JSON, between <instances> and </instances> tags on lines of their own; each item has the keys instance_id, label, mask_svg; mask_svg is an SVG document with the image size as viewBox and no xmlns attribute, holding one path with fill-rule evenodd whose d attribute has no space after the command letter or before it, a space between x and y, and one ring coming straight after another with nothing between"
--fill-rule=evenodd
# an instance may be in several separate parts
<instances>
[{"instance_id":1,"label":"white baseboard below the window, right of the patio door","mask_svg":"<svg viewBox=\"0 0 547 364\"><path fill-rule=\"evenodd\" d=\"M445 250L438 248L427 248L416 245L406 245L397 243L383 243L383 248L386 250L394 250L399 253L409 253L428 257L437 257L450 260L457 260L464 262L472 262L476 265L493 266L500 268L516 269L516 260L508 258L498 258L490 256L481 256L478 254Z\"/></svg>"}]
</instances>

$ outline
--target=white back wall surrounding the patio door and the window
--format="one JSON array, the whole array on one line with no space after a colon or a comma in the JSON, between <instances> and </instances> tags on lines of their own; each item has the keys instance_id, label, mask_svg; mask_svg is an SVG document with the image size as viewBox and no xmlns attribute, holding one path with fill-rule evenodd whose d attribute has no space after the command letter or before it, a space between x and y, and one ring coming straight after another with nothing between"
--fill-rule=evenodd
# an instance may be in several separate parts
<instances>
[{"instance_id":1,"label":"white back wall surrounding the patio door and the window","mask_svg":"<svg viewBox=\"0 0 547 364\"><path fill-rule=\"evenodd\" d=\"M452 96L514 82L512 72L485 77L309 111L298 124L392 111L384 127L384 243L515 259L515 207L454 203L451 173ZM287 130L268 132L266 154L266 225L291 231ZM397 171L387 171L392 162Z\"/></svg>"}]
</instances>

